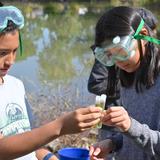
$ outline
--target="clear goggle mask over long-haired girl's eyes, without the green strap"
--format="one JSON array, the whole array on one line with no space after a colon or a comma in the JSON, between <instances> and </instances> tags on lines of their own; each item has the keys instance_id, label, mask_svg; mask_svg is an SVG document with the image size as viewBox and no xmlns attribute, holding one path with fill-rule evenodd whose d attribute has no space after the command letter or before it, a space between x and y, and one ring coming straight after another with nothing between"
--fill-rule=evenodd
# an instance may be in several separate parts
<instances>
[{"instance_id":1,"label":"clear goggle mask over long-haired girl's eyes, without the green strap","mask_svg":"<svg viewBox=\"0 0 160 160\"><path fill-rule=\"evenodd\" d=\"M106 66L112 66L116 61L125 61L135 54L136 40L131 36L116 36L112 41L105 42L105 47L96 47L95 57Z\"/></svg>"}]
</instances>

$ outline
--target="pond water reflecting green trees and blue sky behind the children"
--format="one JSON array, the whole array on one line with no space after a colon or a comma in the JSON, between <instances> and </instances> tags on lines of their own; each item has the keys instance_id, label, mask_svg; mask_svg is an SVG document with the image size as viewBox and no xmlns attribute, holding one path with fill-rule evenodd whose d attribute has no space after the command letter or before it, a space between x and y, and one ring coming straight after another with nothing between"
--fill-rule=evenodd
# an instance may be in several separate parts
<instances>
[{"instance_id":1,"label":"pond water reflecting green trees and blue sky behind the children","mask_svg":"<svg viewBox=\"0 0 160 160\"><path fill-rule=\"evenodd\" d=\"M16 5L26 18L24 53L17 56L10 74L23 80L27 94L58 96L69 104L94 103L87 91L94 62L90 46L95 23L109 5L74 3L68 9L55 3ZM160 15L158 9L151 10Z\"/></svg>"}]
</instances>

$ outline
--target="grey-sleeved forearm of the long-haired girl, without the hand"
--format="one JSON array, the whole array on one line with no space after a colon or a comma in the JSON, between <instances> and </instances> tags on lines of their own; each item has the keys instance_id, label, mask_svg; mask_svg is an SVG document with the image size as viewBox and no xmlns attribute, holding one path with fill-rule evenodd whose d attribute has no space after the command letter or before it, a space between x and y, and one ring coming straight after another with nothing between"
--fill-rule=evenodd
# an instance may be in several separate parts
<instances>
[{"instance_id":1,"label":"grey-sleeved forearm of the long-haired girl, without the hand","mask_svg":"<svg viewBox=\"0 0 160 160\"><path fill-rule=\"evenodd\" d=\"M131 118L131 127L127 133L134 142L147 154L160 159L160 132L151 130L146 124L141 124Z\"/></svg>"}]
</instances>

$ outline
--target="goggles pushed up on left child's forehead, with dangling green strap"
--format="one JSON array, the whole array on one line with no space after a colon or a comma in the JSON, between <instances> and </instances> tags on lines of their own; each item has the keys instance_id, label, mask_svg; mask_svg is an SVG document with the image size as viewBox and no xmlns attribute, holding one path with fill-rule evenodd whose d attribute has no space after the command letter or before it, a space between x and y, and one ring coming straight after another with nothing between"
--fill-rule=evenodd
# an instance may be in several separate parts
<instances>
[{"instance_id":1,"label":"goggles pushed up on left child's forehead, with dangling green strap","mask_svg":"<svg viewBox=\"0 0 160 160\"><path fill-rule=\"evenodd\" d=\"M0 7L0 32L3 32L8 25L8 21L12 21L18 29L22 29L24 26L24 17L21 11L14 6L2 6ZM22 40L19 33L20 41L20 53L22 54Z\"/></svg>"}]
</instances>

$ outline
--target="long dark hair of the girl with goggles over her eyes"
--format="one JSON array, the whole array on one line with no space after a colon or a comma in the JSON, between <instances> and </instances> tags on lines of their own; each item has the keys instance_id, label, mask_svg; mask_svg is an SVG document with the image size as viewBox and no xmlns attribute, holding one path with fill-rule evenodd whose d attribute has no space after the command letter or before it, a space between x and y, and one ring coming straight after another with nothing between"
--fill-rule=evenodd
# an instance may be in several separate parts
<instances>
[{"instance_id":1,"label":"long dark hair of the girl with goggles over her eyes","mask_svg":"<svg viewBox=\"0 0 160 160\"><path fill-rule=\"evenodd\" d=\"M124 36L136 32L141 21L141 16L135 9L131 7L115 7L105 12L97 22L95 33L95 45L101 46L102 43L115 36ZM153 35L152 30L144 26L150 36ZM108 68L108 95L116 90L117 77L123 87L131 87L135 84L137 92L143 91L143 88L150 88L160 71L160 56L158 48L148 42L145 46L146 53L143 56L141 40L138 40L140 50L140 67L133 73L117 69L115 66ZM118 76L117 76L118 74Z\"/></svg>"}]
</instances>

